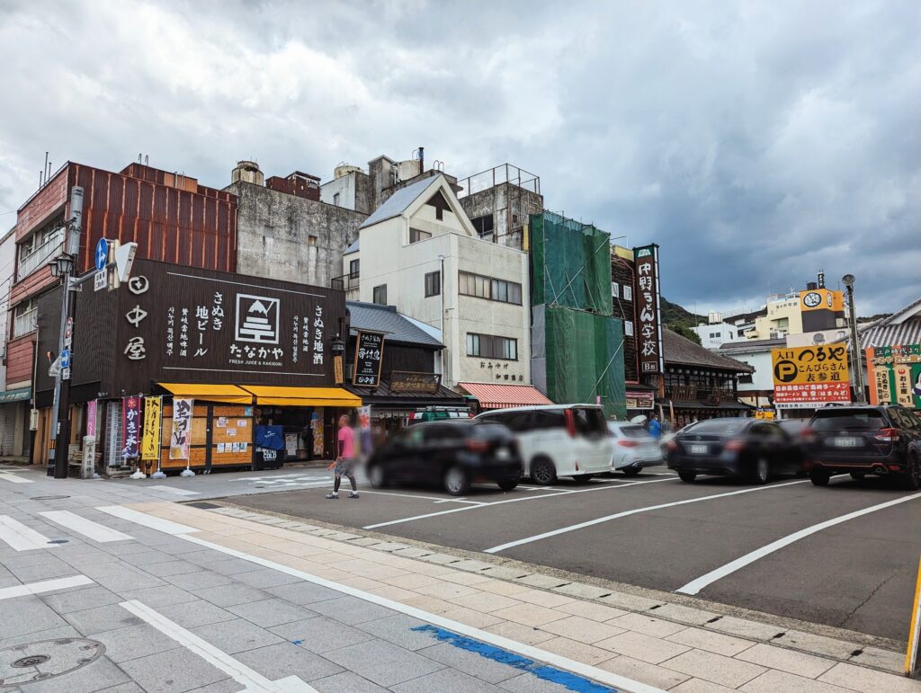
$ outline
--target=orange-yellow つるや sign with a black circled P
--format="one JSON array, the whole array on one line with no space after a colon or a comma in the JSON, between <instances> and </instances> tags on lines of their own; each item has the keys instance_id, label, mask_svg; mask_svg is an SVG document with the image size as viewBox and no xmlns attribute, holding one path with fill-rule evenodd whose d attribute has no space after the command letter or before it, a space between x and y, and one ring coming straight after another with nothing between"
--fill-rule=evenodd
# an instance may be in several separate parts
<instances>
[{"instance_id":1,"label":"orange-yellow \u3064\u308b\u3084 sign with a black circled P","mask_svg":"<svg viewBox=\"0 0 921 693\"><path fill-rule=\"evenodd\" d=\"M772 349L771 361L777 409L851 401L845 344Z\"/></svg>"}]
</instances>

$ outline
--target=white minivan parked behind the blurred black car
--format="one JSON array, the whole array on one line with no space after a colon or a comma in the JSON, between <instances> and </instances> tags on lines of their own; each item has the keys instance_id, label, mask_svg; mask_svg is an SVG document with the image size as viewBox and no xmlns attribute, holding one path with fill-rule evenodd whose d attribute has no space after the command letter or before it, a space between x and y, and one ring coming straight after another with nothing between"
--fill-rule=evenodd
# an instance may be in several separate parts
<instances>
[{"instance_id":1,"label":"white minivan parked behind the blurred black car","mask_svg":"<svg viewBox=\"0 0 921 693\"><path fill-rule=\"evenodd\" d=\"M476 417L507 425L519 445L524 476L541 485L557 477L588 481L611 471L612 440L595 404L551 404L485 411Z\"/></svg>"}]
</instances>

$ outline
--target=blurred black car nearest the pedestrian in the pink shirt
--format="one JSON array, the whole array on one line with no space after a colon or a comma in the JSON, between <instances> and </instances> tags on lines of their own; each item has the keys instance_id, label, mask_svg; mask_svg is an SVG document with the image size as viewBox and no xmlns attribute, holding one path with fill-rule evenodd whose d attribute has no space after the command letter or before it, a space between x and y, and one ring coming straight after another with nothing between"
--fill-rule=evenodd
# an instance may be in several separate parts
<instances>
[{"instance_id":1,"label":"blurred black car nearest the pedestrian in the pink shirt","mask_svg":"<svg viewBox=\"0 0 921 693\"><path fill-rule=\"evenodd\" d=\"M452 496L464 495L476 481L511 491L521 471L515 436L505 426L472 419L417 423L367 460L367 478L375 489L398 482L434 483Z\"/></svg>"}]
</instances>

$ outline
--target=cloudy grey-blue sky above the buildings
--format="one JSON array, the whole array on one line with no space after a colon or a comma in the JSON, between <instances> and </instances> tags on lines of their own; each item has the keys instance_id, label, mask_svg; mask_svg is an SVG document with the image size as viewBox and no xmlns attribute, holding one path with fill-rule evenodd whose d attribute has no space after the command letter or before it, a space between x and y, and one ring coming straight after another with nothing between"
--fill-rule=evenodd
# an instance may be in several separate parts
<instances>
[{"instance_id":1,"label":"cloudy grey-blue sky above the buildings","mask_svg":"<svg viewBox=\"0 0 921 693\"><path fill-rule=\"evenodd\" d=\"M538 174L548 209L661 245L663 294L754 307L857 275L921 295L921 4L0 0L0 225L45 151ZM621 241L624 242L624 241Z\"/></svg>"}]
</instances>

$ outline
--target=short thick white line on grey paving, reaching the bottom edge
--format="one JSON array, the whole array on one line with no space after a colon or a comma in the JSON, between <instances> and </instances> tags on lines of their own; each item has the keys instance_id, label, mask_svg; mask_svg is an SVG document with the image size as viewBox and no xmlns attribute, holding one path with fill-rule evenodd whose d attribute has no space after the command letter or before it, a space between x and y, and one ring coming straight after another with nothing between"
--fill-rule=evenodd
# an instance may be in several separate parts
<instances>
[{"instance_id":1,"label":"short thick white line on grey paving, reaching the bottom edge","mask_svg":"<svg viewBox=\"0 0 921 693\"><path fill-rule=\"evenodd\" d=\"M249 666L239 662L229 654L222 650L218 650L210 642L204 641L192 631L182 628L178 623L169 620L169 618L166 618L150 608L150 606L146 606L146 604L142 604L136 599L122 602L119 606L130 611L137 618L143 618L147 623L168 638L179 642L181 645L204 659L208 664L215 666L228 676L231 676L237 683L244 687L244 690L278 691L279 693L283 691L285 693L295 693L295 691L309 693L309 691L313 691L313 693L316 693L316 688L308 686L297 676L287 676L279 681L270 681L255 669L251 669Z\"/></svg>"}]
</instances>

